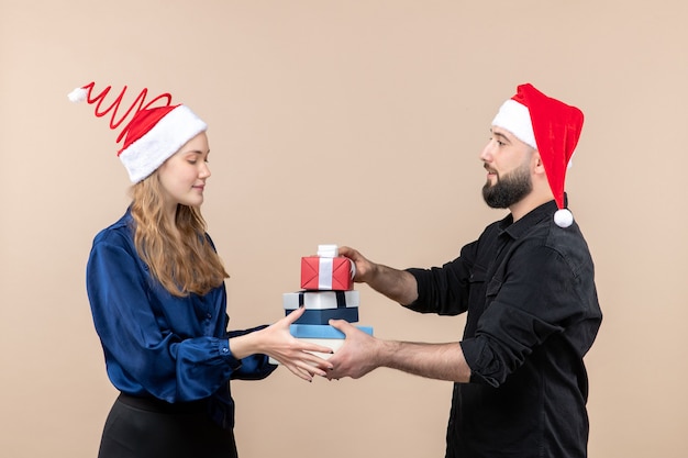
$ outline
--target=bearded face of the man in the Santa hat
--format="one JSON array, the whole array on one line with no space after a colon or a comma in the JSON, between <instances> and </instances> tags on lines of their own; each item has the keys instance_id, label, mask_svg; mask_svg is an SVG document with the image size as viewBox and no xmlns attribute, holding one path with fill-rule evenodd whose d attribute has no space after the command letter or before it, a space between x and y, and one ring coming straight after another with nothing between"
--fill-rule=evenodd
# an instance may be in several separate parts
<instances>
[{"instance_id":1,"label":"bearded face of the man in the Santa hat","mask_svg":"<svg viewBox=\"0 0 688 458\"><path fill-rule=\"evenodd\" d=\"M533 148L510 132L492 127L492 137L480 159L488 171L482 198L492 209L507 209L533 190L531 158Z\"/></svg>"}]
</instances>

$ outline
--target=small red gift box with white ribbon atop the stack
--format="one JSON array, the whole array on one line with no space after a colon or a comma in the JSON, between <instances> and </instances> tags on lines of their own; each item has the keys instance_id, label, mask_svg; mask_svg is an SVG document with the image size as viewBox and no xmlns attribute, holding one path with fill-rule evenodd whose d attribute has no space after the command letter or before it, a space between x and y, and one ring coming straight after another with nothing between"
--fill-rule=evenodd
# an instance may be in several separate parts
<instances>
[{"instance_id":1,"label":"small red gift box with white ribbon atop the stack","mask_svg":"<svg viewBox=\"0 0 688 458\"><path fill-rule=\"evenodd\" d=\"M344 256L301 258L301 288L349 291L354 289L353 262Z\"/></svg>"}]
</instances>

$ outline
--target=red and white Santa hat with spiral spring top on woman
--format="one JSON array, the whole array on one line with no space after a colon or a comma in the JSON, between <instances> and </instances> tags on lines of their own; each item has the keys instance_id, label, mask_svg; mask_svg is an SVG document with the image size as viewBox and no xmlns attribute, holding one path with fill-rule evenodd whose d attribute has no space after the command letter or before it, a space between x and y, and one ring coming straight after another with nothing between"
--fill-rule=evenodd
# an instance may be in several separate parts
<instances>
[{"instance_id":1,"label":"red and white Santa hat with spiral spring top on woman","mask_svg":"<svg viewBox=\"0 0 688 458\"><path fill-rule=\"evenodd\" d=\"M171 96L163 93L145 102L147 89L143 89L126 113L116 120L118 109L121 108L122 98L126 86L120 92L115 101L107 109L100 105L110 91L108 86L102 92L93 96L95 82L75 89L67 97L73 102L87 101L96 103L96 115L103 116L112 111L110 129L118 129L129 114L135 109L131 121L122 129L116 138L120 143L124 137L122 148L118 152L119 158L124 164L129 178L136 183L153 174L163 163L173 156L181 146L201 132L206 132L208 125L198 118L188 107L171 104ZM165 102L166 100L166 102ZM160 107L152 107L163 101ZM136 107L138 103L138 107Z\"/></svg>"}]
</instances>

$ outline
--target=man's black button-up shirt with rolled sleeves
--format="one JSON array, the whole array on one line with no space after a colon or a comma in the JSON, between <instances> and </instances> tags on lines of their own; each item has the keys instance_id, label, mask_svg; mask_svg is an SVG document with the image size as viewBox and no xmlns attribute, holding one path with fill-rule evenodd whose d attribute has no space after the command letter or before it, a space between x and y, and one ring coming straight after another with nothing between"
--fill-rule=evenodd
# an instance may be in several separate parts
<instances>
[{"instance_id":1,"label":"man's black button-up shirt with rolled sleeves","mask_svg":"<svg viewBox=\"0 0 688 458\"><path fill-rule=\"evenodd\" d=\"M408 269L419 293L409 309L468 312L471 377L454 384L447 457L587 456L582 358L602 314L585 238L576 223L558 227L555 211L552 201L509 215L443 267Z\"/></svg>"}]
</instances>

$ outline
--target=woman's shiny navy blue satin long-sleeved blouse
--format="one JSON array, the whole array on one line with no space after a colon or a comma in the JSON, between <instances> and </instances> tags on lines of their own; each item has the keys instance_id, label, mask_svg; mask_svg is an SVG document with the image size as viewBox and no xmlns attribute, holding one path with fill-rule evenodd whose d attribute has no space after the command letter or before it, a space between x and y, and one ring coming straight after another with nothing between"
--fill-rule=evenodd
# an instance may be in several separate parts
<instances>
[{"instance_id":1,"label":"woman's shiny navy blue satin long-sleeved blouse","mask_svg":"<svg viewBox=\"0 0 688 458\"><path fill-rule=\"evenodd\" d=\"M224 283L206 295L171 295L151 275L134 246L127 211L101 231L88 259L86 286L108 377L120 391L169 403L210 399L210 414L232 427L229 380L267 377L265 355L241 360L229 338ZM209 242L212 242L209 238Z\"/></svg>"}]
</instances>

